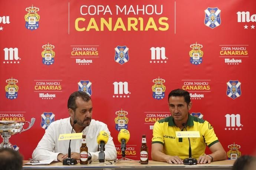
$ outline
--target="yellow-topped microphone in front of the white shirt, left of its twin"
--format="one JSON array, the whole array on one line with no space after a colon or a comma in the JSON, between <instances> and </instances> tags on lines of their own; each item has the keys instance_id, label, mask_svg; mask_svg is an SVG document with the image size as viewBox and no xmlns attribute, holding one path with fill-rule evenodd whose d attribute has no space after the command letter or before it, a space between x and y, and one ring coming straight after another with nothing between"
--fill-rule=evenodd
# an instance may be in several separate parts
<instances>
[{"instance_id":1,"label":"yellow-topped microphone in front of the white shirt, left of its twin","mask_svg":"<svg viewBox=\"0 0 256 170\"><path fill-rule=\"evenodd\" d=\"M105 162L105 144L108 142L108 133L104 130L99 132L97 136L97 143L100 145L101 150L99 152L99 162Z\"/></svg>"}]
</instances>

